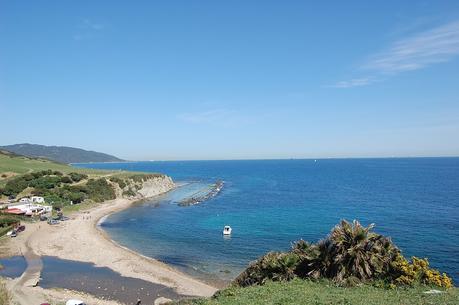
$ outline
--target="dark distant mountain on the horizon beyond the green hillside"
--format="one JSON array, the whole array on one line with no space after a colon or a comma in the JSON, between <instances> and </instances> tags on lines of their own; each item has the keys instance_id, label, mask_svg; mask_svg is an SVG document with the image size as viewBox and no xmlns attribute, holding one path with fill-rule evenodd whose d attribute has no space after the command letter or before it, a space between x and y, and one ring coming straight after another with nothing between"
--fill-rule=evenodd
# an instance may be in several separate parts
<instances>
[{"instance_id":1,"label":"dark distant mountain on the horizon beyond the green hillside","mask_svg":"<svg viewBox=\"0 0 459 305\"><path fill-rule=\"evenodd\" d=\"M60 163L124 161L115 156L107 155L104 153L66 146L45 146L24 143L0 146L0 149L10 151L18 155L45 158Z\"/></svg>"}]
</instances>

